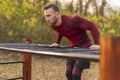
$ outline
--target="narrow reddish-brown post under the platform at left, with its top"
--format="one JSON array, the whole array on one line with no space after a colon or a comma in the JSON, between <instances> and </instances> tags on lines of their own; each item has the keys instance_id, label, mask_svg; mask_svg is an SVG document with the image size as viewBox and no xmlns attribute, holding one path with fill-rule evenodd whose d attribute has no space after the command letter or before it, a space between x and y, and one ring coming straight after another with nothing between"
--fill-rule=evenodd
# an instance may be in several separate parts
<instances>
[{"instance_id":1,"label":"narrow reddish-brown post under the platform at left, with its top","mask_svg":"<svg viewBox=\"0 0 120 80\"><path fill-rule=\"evenodd\" d=\"M23 39L24 44L30 44L32 43L31 39ZM23 54L23 79L24 80L31 80L31 64L32 64L32 57L31 54Z\"/></svg>"}]
</instances>

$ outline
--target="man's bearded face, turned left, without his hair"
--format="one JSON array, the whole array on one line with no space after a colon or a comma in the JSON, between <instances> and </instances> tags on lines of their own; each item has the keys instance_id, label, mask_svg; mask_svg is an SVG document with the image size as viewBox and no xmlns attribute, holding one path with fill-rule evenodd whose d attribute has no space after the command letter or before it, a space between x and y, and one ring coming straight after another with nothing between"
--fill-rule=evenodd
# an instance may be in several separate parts
<instances>
[{"instance_id":1,"label":"man's bearded face, turned left, without his hair","mask_svg":"<svg viewBox=\"0 0 120 80\"><path fill-rule=\"evenodd\" d=\"M48 25L53 26L57 23L57 12L55 12L52 8L44 10L44 15Z\"/></svg>"}]
</instances>

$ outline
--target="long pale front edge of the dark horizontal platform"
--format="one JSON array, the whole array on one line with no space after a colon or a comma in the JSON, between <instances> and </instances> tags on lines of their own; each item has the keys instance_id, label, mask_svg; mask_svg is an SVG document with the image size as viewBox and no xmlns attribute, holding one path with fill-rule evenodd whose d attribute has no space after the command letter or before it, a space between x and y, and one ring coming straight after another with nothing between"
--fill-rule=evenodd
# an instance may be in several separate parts
<instances>
[{"instance_id":1,"label":"long pale front edge of the dark horizontal platform","mask_svg":"<svg viewBox=\"0 0 120 80\"><path fill-rule=\"evenodd\" d=\"M45 51L45 50L31 50L31 49L17 49L17 48L6 48L0 47L0 50L12 51L12 52L19 52L22 54L34 54L34 55L44 55L44 56L53 56L53 57L61 57L61 58L73 58L73 59L87 59L93 61L99 61L99 50L93 51L81 51L79 52L60 52L60 51Z\"/></svg>"}]
</instances>

